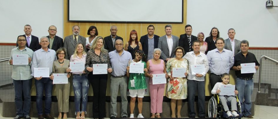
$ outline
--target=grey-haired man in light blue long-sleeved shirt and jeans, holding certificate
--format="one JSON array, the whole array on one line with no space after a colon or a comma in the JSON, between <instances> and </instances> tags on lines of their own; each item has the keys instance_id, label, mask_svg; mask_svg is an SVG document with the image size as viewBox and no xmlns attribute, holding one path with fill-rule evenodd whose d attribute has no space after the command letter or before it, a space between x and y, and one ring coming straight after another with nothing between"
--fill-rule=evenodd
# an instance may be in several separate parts
<instances>
[{"instance_id":1,"label":"grey-haired man in light blue long-sleeved shirt and jeans, holding certificate","mask_svg":"<svg viewBox=\"0 0 278 119\"><path fill-rule=\"evenodd\" d=\"M49 49L49 39L47 37L41 37L40 39L41 49L34 52L32 62L32 76L34 76L34 68L36 67L49 67L49 75L51 75L53 61L57 60L56 52L53 49ZM52 80L49 77L34 77L36 85L36 105L38 110L39 119L54 119L50 115L51 109L51 96L52 96ZM42 96L45 94L45 117L42 112Z\"/></svg>"}]
</instances>

